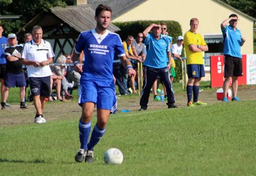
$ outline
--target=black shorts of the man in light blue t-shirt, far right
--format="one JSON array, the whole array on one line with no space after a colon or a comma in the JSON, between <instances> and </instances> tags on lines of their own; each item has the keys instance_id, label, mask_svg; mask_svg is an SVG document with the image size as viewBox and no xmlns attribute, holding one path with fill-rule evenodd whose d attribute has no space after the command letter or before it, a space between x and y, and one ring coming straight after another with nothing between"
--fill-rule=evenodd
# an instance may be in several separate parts
<instances>
[{"instance_id":1,"label":"black shorts of the man in light blue t-shirt, far right","mask_svg":"<svg viewBox=\"0 0 256 176\"><path fill-rule=\"evenodd\" d=\"M243 63L241 58L224 55L224 77L242 77Z\"/></svg>"}]
</instances>

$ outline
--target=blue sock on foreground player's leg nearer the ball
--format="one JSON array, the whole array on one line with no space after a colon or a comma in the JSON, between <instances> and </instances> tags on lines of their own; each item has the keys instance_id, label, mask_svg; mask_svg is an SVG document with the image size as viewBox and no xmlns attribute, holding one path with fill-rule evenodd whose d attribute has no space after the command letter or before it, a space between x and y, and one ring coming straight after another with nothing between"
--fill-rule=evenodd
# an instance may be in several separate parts
<instances>
[{"instance_id":1,"label":"blue sock on foreground player's leg nearer the ball","mask_svg":"<svg viewBox=\"0 0 256 176\"><path fill-rule=\"evenodd\" d=\"M104 135L106 128L101 129L96 124L92 131L90 142L88 143L88 150L93 150L93 147L99 142L100 138Z\"/></svg>"}]
</instances>

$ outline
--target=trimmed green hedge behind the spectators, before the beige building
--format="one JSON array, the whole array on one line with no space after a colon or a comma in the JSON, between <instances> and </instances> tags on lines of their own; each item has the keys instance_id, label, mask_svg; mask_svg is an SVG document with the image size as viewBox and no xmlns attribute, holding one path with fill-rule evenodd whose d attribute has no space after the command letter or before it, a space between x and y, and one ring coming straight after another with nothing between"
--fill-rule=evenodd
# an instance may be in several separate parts
<instances>
[{"instance_id":1,"label":"trimmed green hedge behind the spectators, before the beige building","mask_svg":"<svg viewBox=\"0 0 256 176\"><path fill-rule=\"evenodd\" d=\"M141 33L150 26L152 23L160 24L161 22L165 22L167 24L168 35L171 36L172 43L175 44L177 41L177 37L182 35L181 26L178 22L175 21L134 21L134 22L113 22L115 26L120 28L121 30L117 33L120 35L121 39L124 41L128 35L132 35L134 39L138 33ZM184 49L182 50L182 57L184 57ZM174 82L179 82L182 79L182 67L181 62L176 60L176 77L174 78Z\"/></svg>"}]
</instances>

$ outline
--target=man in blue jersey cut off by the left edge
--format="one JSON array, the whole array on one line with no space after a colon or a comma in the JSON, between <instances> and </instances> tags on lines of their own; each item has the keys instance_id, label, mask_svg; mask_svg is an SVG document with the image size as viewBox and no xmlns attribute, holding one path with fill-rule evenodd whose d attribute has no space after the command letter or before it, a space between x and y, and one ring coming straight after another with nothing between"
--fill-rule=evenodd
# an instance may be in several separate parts
<instances>
[{"instance_id":1,"label":"man in blue jersey cut off by the left edge","mask_svg":"<svg viewBox=\"0 0 256 176\"><path fill-rule=\"evenodd\" d=\"M4 57L4 50L7 47L8 39L2 36L4 32L3 26L0 25L0 79L1 79L1 98L3 99L4 92L4 73L6 70L6 59Z\"/></svg>"}]
</instances>

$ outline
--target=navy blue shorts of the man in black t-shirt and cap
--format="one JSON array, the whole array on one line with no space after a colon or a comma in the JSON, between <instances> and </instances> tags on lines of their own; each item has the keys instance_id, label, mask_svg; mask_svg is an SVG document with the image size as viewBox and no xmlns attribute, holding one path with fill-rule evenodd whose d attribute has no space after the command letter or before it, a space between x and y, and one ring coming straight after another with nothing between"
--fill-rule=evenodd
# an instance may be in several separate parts
<instances>
[{"instance_id":1,"label":"navy blue shorts of the man in black t-shirt and cap","mask_svg":"<svg viewBox=\"0 0 256 176\"><path fill-rule=\"evenodd\" d=\"M26 87L26 79L24 73L5 73L4 75L4 86L8 88Z\"/></svg>"}]
</instances>

